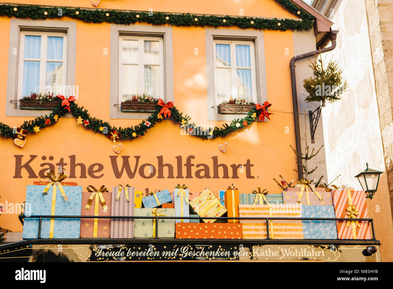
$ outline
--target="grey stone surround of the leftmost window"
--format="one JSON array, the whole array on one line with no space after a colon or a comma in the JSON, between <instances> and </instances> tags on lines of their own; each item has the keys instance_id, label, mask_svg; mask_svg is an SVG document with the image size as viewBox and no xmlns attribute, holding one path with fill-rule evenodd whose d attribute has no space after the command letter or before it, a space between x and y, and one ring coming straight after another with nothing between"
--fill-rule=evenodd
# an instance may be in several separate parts
<instances>
[{"instance_id":1,"label":"grey stone surround of the leftmost window","mask_svg":"<svg viewBox=\"0 0 393 289\"><path fill-rule=\"evenodd\" d=\"M17 102L17 81L18 81L18 59L19 59L19 38L20 31L66 31L68 37L67 51L67 83L75 85L75 57L76 57L76 22L58 20L31 20L11 18L9 29L9 53L8 53L8 77L7 77L7 97L6 116L38 117L50 114L50 110L21 110ZM13 55L14 48L17 55ZM70 113L63 117L73 117Z\"/></svg>"}]
</instances>

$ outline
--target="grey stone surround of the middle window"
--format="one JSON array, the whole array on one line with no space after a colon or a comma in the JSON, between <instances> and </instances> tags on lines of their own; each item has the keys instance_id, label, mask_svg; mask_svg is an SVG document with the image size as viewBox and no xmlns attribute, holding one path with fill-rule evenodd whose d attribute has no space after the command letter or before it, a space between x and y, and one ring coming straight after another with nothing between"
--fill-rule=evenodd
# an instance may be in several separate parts
<instances>
[{"instance_id":1,"label":"grey stone surround of the middle window","mask_svg":"<svg viewBox=\"0 0 393 289\"><path fill-rule=\"evenodd\" d=\"M151 112L121 112L118 104L118 57L119 36L152 36L162 37L164 42L164 97L165 102L173 101L173 32L172 26L152 25L110 25L110 119L145 120Z\"/></svg>"}]
</instances>

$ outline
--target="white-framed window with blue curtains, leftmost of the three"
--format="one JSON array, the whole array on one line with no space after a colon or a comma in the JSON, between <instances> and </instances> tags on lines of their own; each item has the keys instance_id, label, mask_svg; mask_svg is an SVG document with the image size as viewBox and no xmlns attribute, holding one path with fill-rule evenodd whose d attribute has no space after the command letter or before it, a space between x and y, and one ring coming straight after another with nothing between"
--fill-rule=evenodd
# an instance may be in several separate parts
<instances>
[{"instance_id":1,"label":"white-framed window with blue curtains, leftmost of the three","mask_svg":"<svg viewBox=\"0 0 393 289\"><path fill-rule=\"evenodd\" d=\"M66 33L21 31L19 45L18 99L66 84Z\"/></svg>"}]
</instances>

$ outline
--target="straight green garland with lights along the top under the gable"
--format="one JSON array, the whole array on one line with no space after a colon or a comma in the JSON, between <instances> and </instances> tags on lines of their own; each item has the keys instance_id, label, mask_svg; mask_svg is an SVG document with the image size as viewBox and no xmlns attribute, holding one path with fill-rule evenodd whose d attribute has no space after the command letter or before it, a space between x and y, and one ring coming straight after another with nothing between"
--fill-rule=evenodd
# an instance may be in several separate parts
<instances>
[{"instance_id":1,"label":"straight green garland with lights along the top under the gable","mask_svg":"<svg viewBox=\"0 0 393 289\"><path fill-rule=\"evenodd\" d=\"M230 27L237 26L242 29L270 29L270 30L309 30L313 26L314 16L296 6L290 0L275 0L290 13L298 16L296 19L277 19L277 18L255 18L255 17L233 17L233 16L214 16L214 15L194 15L189 13L163 13L118 11L102 9L81 9L68 7L40 7L35 5L0 5L0 16L31 18L31 19L54 19L71 17L83 22L93 23L115 23L115 24L134 24L144 22L154 25L170 24L172 26L196 26L205 27ZM16 11L14 9L17 9ZM61 9L61 13L60 10ZM298 12L300 11L300 14ZM108 16L107 16L108 13ZM168 18L168 19L167 19ZM198 20L195 21L195 18ZM223 21L225 20L225 22Z\"/></svg>"}]
</instances>

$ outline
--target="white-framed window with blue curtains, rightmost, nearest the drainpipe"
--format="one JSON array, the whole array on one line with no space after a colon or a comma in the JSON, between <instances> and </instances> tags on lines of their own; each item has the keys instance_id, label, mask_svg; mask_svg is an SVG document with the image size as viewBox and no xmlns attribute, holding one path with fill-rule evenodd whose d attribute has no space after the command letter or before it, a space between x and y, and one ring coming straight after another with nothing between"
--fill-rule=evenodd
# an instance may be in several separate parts
<instances>
[{"instance_id":1,"label":"white-framed window with blue curtains, rightmost, nearest the drainpipe","mask_svg":"<svg viewBox=\"0 0 393 289\"><path fill-rule=\"evenodd\" d=\"M215 103L230 99L257 102L252 41L214 40Z\"/></svg>"}]
</instances>

